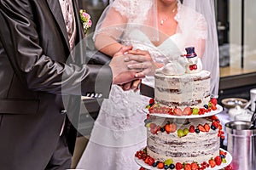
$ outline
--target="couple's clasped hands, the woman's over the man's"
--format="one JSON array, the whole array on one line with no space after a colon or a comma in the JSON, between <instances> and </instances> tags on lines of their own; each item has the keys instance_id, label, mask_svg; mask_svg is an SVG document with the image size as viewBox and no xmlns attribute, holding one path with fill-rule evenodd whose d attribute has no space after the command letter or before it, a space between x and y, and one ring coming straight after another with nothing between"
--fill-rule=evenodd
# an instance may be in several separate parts
<instances>
[{"instance_id":1,"label":"couple's clasped hands, the woman's over the man's","mask_svg":"<svg viewBox=\"0 0 256 170\"><path fill-rule=\"evenodd\" d=\"M118 84L123 90L135 91L142 78L154 76L154 71L159 68L148 51L132 50L132 46L120 48L109 65L113 72L113 84Z\"/></svg>"}]
</instances>

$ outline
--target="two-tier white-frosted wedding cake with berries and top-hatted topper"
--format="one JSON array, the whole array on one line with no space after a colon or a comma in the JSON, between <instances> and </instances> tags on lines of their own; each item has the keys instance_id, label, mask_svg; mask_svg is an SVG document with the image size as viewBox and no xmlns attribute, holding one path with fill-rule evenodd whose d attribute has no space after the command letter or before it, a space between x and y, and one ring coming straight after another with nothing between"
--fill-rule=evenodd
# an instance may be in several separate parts
<instances>
[{"instance_id":1,"label":"two-tier white-frosted wedding cake with berries and top-hatted topper","mask_svg":"<svg viewBox=\"0 0 256 170\"><path fill-rule=\"evenodd\" d=\"M222 126L217 116L207 116L217 110L210 72L202 70L195 48L186 51L156 71L154 99L147 106L147 146L136 157L158 169L205 169L226 161L227 153L219 150Z\"/></svg>"}]
</instances>

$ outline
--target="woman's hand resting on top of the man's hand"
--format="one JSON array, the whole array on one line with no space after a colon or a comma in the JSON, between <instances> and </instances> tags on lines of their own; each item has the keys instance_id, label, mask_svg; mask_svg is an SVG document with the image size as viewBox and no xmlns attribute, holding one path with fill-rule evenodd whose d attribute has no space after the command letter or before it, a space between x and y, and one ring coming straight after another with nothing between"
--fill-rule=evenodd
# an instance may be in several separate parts
<instances>
[{"instance_id":1,"label":"woman's hand resting on top of the man's hand","mask_svg":"<svg viewBox=\"0 0 256 170\"><path fill-rule=\"evenodd\" d=\"M136 60L139 62L128 65L129 69L138 70L138 77L154 76L155 70L160 68L160 65L154 62L148 51L141 49L130 50L126 56L129 57L130 60Z\"/></svg>"}]
</instances>

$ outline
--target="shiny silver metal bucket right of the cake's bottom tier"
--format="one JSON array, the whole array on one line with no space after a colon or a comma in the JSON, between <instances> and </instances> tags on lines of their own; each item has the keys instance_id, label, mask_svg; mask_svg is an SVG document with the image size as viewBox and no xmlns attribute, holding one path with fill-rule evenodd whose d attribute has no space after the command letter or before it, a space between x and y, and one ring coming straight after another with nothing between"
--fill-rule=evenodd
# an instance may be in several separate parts
<instances>
[{"instance_id":1,"label":"shiny silver metal bucket right of the cake's bottom tier","mask_svg":"<svg viewBox=\"0 0 256 170\"><path fill-rule=\"evenodd\" d=\"M256 170L256 129L252 122L234 121L225 124L227 151L234 170Z\"/></svg>"}]
</instances>

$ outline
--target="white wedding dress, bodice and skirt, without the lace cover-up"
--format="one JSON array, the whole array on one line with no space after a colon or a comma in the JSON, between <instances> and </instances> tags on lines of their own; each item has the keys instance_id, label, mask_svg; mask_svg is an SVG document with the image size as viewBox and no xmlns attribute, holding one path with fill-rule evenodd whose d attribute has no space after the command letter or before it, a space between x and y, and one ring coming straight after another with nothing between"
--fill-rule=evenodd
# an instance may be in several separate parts
<instances>
[{"instance_id":1,"label":"white wedding dress, bodice and skirt, without the lace cover-up","mask_svg":"<svg viewBox=\"0 0 256 170\"><path fill-rule=\"evenodd\" d=\"M119 1L115 2L118 4ZM176 20L180 21L178 14ZM137 28L125 30L123 40L134 48L148 50L155 62L164 64L169 60L177 59L183 54L186 46L182 34L178 32L166 38L159 46L154 46L150 38ZM154 87L154 77L146 77L143 83ZM148 100L148 97L140 95L139 92L123 91L119 86L113 85L109 99L104 99L102 103L90 141L77 168L138 170L139 166L134 161L134 155L137 150L146 146L147 132L144 127L146 113L143 109L148 105Z\"/></svg>"}]
</instances>

